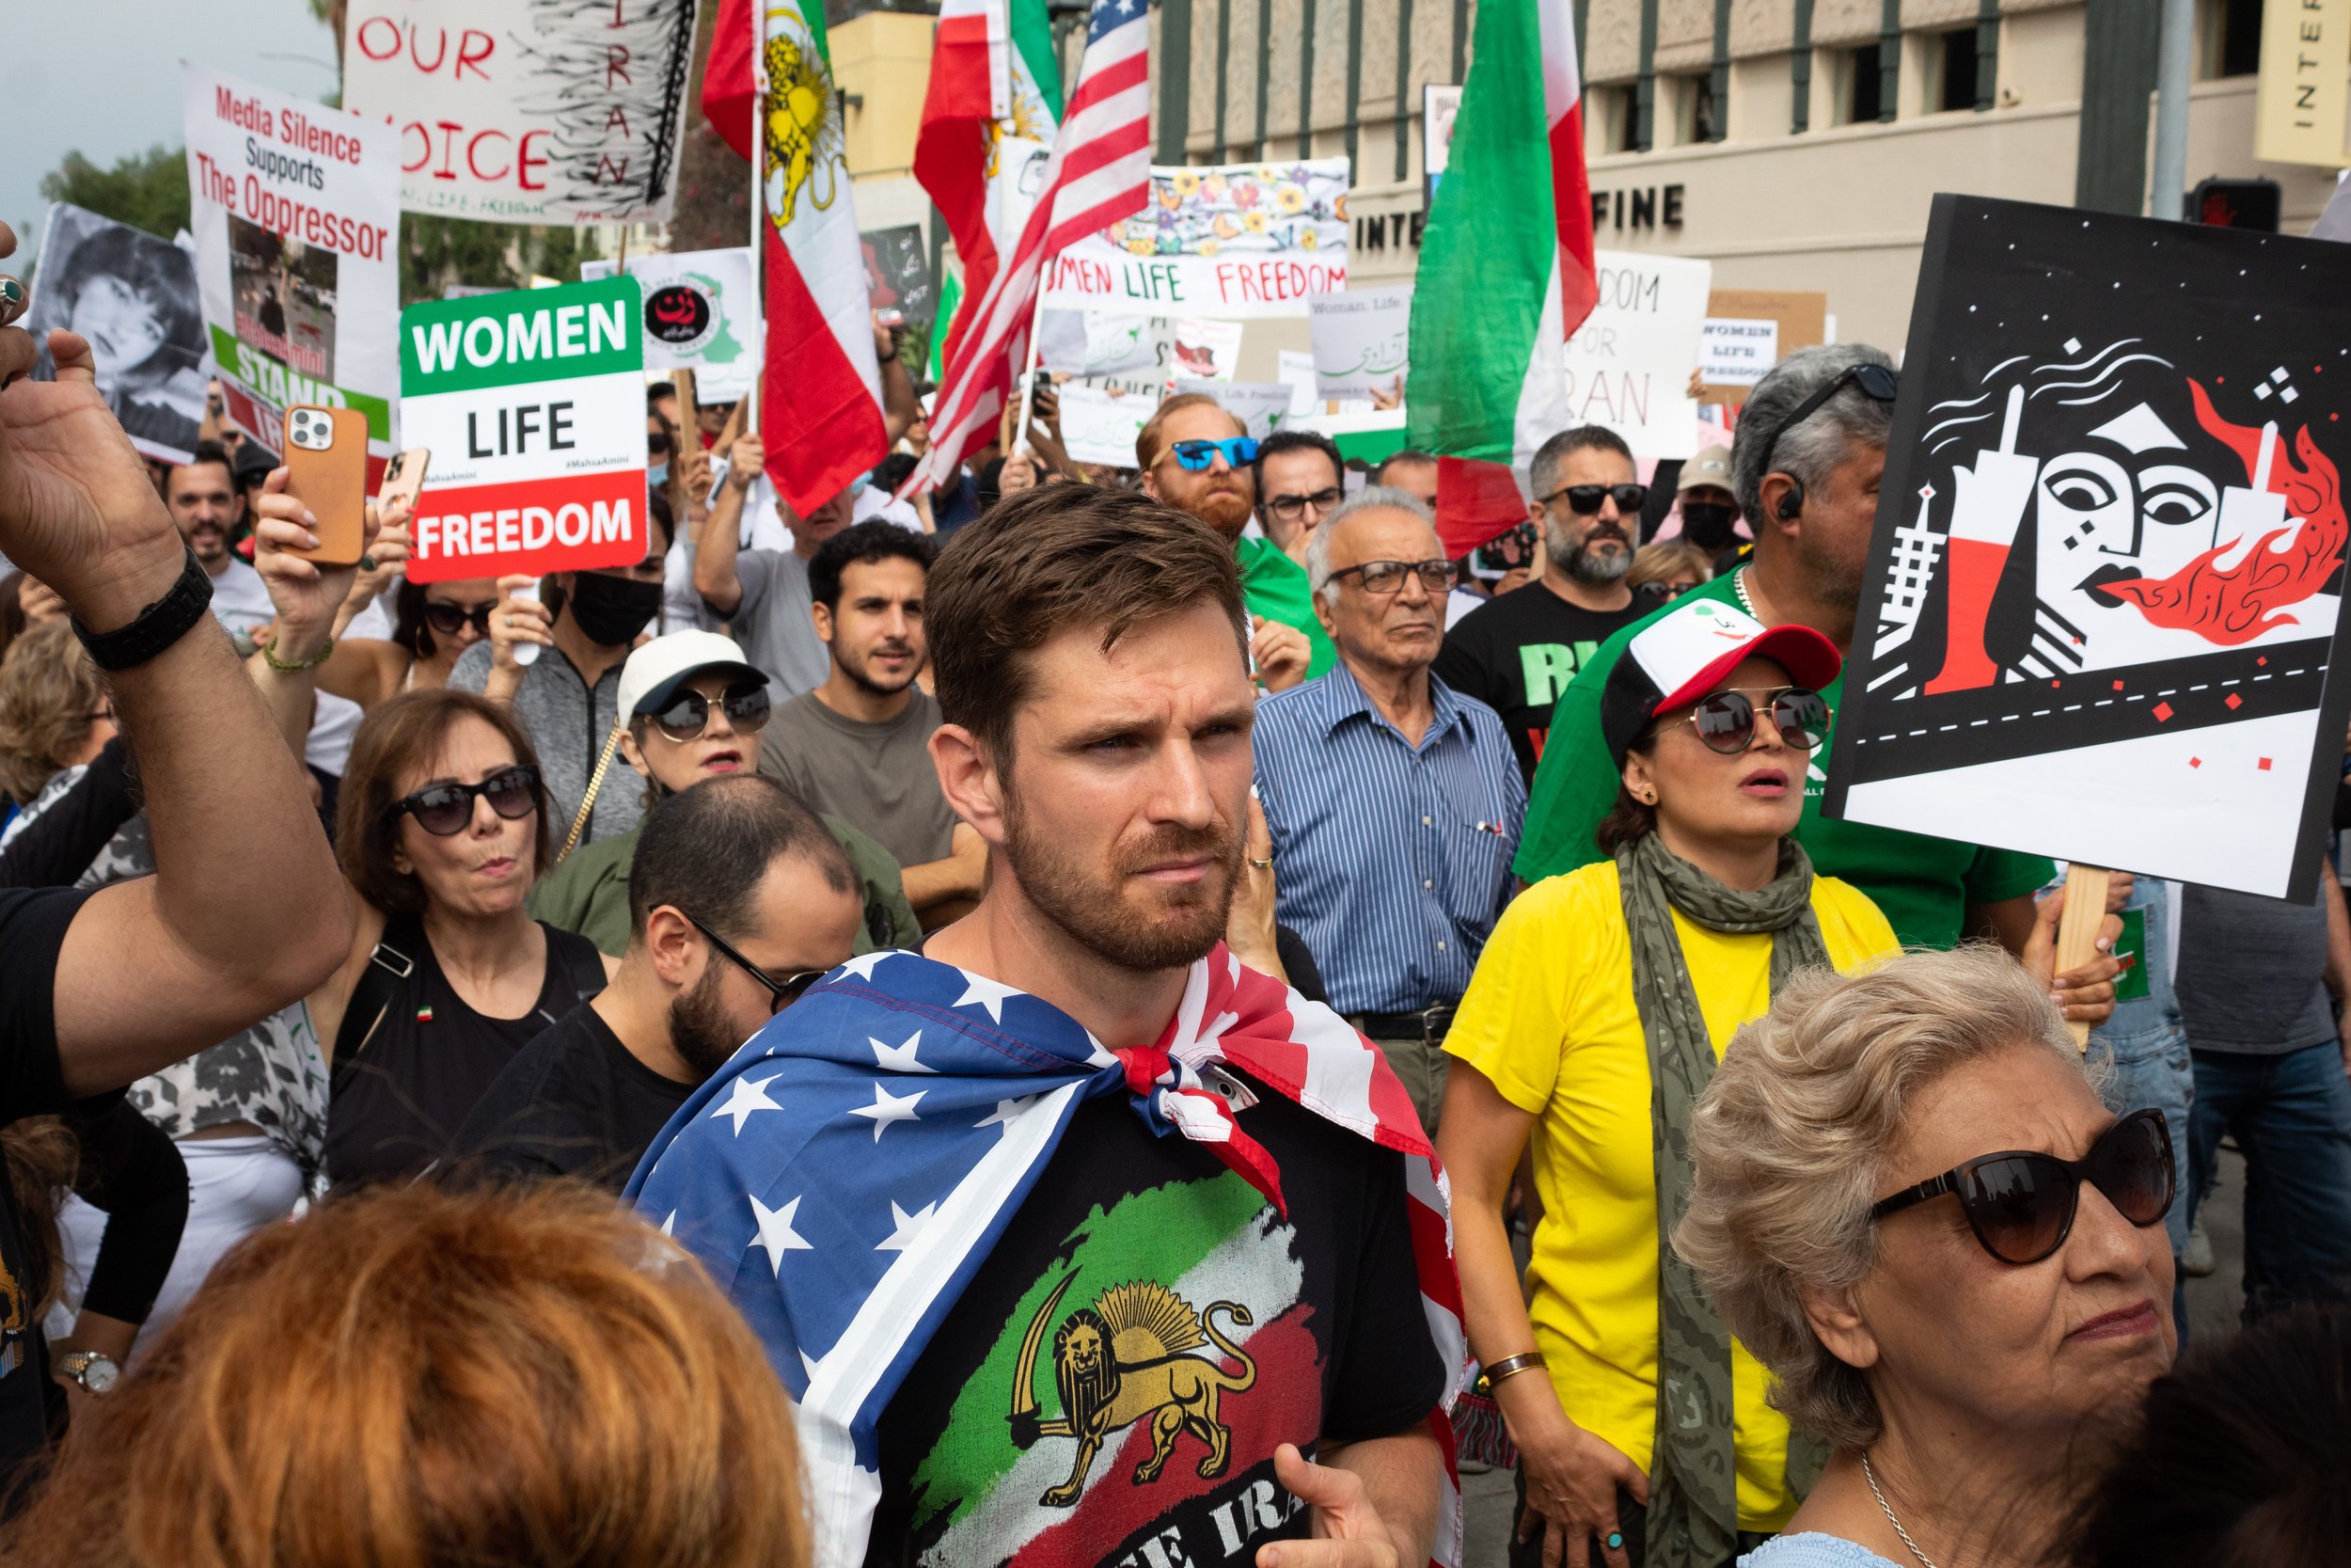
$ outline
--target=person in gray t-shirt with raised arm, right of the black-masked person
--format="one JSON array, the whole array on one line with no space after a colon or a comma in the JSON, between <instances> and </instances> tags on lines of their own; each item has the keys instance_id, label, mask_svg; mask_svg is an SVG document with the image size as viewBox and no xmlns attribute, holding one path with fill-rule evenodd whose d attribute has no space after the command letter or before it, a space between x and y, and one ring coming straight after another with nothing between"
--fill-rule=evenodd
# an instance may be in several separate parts
<instances>
[{"instance_id":1,"label":"person in gray t-shirt with raised arm, right of the black-masked person","mask_svg":"<svg viewBox=\"0 0 2351 1568\"><path fill-rule=\"evenodd\" d=\"M809 557L849 527L856 487L844 489L806 517L783 508L792 529L790 550L743 548L743 501L766 465L766 444L743 435L726 451L726 477L710 498L710 520L694 548L694 590L726 621L752 668L766 675L766 693L778 708L825 679L825 644L809 623Z\"/></svg>"}]
</instances>

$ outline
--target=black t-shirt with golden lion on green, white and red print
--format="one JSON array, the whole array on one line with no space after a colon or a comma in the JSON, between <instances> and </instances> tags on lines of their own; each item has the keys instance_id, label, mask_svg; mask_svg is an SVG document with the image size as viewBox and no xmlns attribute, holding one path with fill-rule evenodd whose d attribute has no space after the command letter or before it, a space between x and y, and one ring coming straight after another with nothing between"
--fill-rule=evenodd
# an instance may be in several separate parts
<instances>
[{"instance_id":1,"label":"black t-shirt with golden lion on green, white and red print","mask_svg":"<svg viewBox=\"0 0 2351 1568\"><path fill-rule=\"evenodd\" d=\"M1436 1408L1404 1157L1270 1091L1239 1124L1288 1220L1124 1095L1077 1110L882 1413L870 1566L1248 1563L1307 1535L1279 1443L1312 1458Z\"/></svg>"}]
</instances>

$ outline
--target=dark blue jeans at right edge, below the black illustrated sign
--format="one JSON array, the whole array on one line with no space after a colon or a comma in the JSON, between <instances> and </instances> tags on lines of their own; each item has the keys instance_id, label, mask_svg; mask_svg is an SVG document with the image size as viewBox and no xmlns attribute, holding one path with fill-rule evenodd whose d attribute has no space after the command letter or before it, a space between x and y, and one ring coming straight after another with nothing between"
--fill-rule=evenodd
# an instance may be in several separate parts
<instances>
[{"instance_id":1,"label":"dark blue jeans at right edge, below the black illustrated sign","mask_svg":"<svg viewBox=\"0 0 2351 1568\"><path fill-rule=\"evenodd\" d=\"M2191 1192L2222 1133L2245 1152L2245 1321L2351 1286L2351 1079L2342 1046L2193 1051Z\"/></svg>"}]
</instances>

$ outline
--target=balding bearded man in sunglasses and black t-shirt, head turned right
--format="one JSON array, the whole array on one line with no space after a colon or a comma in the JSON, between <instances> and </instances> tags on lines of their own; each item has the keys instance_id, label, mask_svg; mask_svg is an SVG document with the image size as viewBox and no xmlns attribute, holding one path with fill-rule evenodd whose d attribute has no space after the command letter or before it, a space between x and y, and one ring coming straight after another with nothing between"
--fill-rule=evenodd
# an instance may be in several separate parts
<instances>
[{"instance_id":1,"label":"balding bearded man in sunglasses and black t-shirt, head turned right","mask_svg":"<svg viewBox=\"0 0 2351 1568\"><path fill-rule=\"evenodd\" d=\"M762 689L764 696L764 689ZM614 1192L736 1046L849 957L849 856L773 778L712 778L644 813L628 952L475 1103L461 1171Z\"/></svg>"}]
</instances>

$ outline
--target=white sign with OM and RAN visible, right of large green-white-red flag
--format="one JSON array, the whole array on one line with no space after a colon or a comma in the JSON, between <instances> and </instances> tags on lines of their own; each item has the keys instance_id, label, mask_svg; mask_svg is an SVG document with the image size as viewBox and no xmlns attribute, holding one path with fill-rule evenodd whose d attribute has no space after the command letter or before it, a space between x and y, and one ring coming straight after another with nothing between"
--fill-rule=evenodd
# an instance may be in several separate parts
<instances>
[{"instance_id":1,"label":"white sign with OM and RAN visible, right of large green-white-red flag","mask_svg":"<svg viewBox=\"0 0 2351 1568\"><path fill-rule=\"evenodd\" d=\"M1688 395L1714 266L1636 252L1594 252L1599 303L1568 339L1570 423L1608 425L1643 458L1697 451Z\"/></svg>"}]
</instances>

